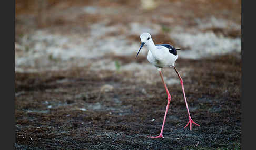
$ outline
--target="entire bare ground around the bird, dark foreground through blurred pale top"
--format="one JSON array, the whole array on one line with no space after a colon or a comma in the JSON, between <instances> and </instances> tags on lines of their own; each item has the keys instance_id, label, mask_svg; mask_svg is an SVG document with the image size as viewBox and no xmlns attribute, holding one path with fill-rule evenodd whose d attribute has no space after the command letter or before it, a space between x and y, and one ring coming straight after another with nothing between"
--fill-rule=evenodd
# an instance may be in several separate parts
<instances>
[{"instance_id":1,"label":"entire bare ground around the bird, dark foreground through blurred pale top","mask_svg":"<svg viewBox=\"0 0 256 150\"><path fill-rule=\"evenodd\" d=\"M38 26L36 1L16 1L16 149L241 149L241 1L47 2ZM143 31L182 49L192 131L164 68L165 138L147 137L167 97L147 50L135 58Z\"/></svg>"}]
</instances>

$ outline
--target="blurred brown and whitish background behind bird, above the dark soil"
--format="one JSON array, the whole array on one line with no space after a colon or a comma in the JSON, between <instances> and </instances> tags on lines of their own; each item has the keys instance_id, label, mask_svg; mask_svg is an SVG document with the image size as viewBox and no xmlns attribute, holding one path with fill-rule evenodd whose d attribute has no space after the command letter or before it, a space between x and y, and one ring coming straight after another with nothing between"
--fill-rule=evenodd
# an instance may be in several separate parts
<instances>
[{"instance_id":1,"label":"blurred brown and whitish background behind bird, above the dark soil","mask_svg":"<svg viewBox=\"0 0 256 150\"><path fill-rule=\"evenodd\" d=\"M16 1L15 71L135 70L139 35L179 58L241 53L241 1ZM145 59L144 48L140 57ZM131 58L118 62L116 57ZM146 62L143 61L143 62ZM154 69L154 68L153 68Z\"/></svg>"}]
</instances>

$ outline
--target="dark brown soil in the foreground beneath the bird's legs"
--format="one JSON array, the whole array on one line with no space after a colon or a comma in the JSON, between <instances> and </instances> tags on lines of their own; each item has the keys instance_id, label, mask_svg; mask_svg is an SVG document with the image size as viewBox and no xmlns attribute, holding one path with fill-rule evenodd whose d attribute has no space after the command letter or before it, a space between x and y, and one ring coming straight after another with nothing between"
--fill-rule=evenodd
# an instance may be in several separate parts
<instances>
[{"instance_id":1,"label":"dark brown soil in the foreground beneath the bird's legs","mask_svg":"<svg viewBox=\"0 0 256 150\"><path fill-rule=\"evenodd\" d=\"M181 85L168 86L172 100L164 139L166 93L154 85L127 82L131 72L16 73L16 148L19 149L216 149L241 145L241 61L233 55L179 59L190 67L183 78L192 119L188 122ZM172 68L166 68L172 69ZM166 70L165 69L165 70ZM174 70L173 70L174 71ZM104 85L109 85L102 88Z\"/></svg>"}]
</instances>

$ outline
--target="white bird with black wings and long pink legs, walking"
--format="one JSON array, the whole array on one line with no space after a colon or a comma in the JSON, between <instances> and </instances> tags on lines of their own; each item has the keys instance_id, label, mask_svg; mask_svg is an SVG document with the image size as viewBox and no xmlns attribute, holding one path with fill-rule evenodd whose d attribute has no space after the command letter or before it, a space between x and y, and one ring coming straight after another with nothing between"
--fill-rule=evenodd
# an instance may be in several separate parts
<instances>
[{"instance_id":1,"label":"white bird with black wings and long pink legs, walking","mask_svg":"<svg viewBox=\"0 0 256 150\"><path fill-rule=\"evenodd\" d=\"M164 119L163 119L163 124L162 124L162 128L161 128L161 132L159 136L149 136L150 138L164 138L163 137L163 129L164 129L164 123L166 120L166 115L168 112L168 108L169 108L169 104L171 102L171 95L168 91L168 87L164 82L163 79L163 74L161 72L161 68L165 68L165 67L173 67L175 72L177 73L180 82L181 82L181 87L182 87L182 93L183 93L183 97L185 100L185 104L186 104L186 109L188 111L188 115L189 115L189 121L186 124L186 126L184 127L184 129L190 124L190 130L192 130L192 124L198 125L199 124L195 123L191 116L190 116L190 112L189 112L189 107L188 107L188 103L186 101L186 95L185 95L185 91L184 91L184 85L183 85L183 80L179 74L179 72L177 71L176 67L175 67L175 61L178 58L177 55L177 50L180 50L179 48L175 48L174 46L170 45L170 44L154 44L153 39L151 37L151 35L149 33L142 33L140 35L140 40L141 40L141 46L139 51L137 52L136 57L139 55L139 52L141 51L143 46L146 46L148 49L148 53L147 53L147 60L157 68L157 70L159 71L162 83L164 84L164 88L166 90L167 93L167 105L166 105L166 110L165 110L165 114L164 114Z\"/></svg>"}]
</instances>

